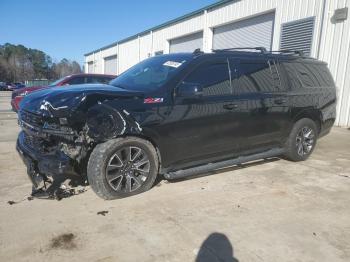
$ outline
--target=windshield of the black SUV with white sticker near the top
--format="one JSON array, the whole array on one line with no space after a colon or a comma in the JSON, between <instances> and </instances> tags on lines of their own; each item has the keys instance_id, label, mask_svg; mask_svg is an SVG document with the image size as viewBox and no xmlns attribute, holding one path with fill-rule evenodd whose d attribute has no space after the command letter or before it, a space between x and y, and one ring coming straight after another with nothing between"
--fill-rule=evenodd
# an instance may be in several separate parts
<instances>
[{"instance_id":1,"label":"windshield of the black SUV with white sticker near the top","mask_svg":"<svg viewBox=\"0 0 350 262\"><path fill-rule=\"evenodd\" d=\"M156 90L170 80L189 59L189 55L155 56L131 67L110 84L129 90Z\"/></svg>"}]
</instances>

